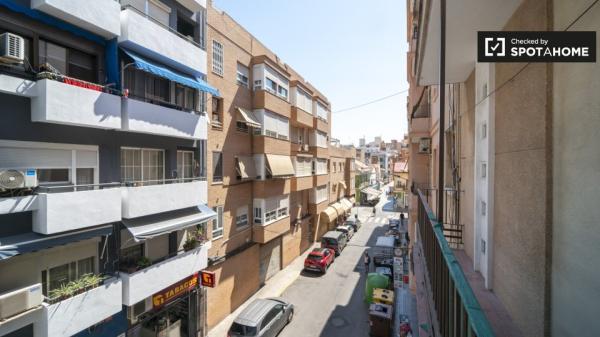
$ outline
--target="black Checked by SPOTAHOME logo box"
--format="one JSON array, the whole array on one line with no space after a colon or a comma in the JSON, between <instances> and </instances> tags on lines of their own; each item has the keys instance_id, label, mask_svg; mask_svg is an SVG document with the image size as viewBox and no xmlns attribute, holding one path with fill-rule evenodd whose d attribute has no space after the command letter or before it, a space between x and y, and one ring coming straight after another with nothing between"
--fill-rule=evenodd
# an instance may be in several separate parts
<instances>
[{"instance_id":1,"label":"black Checked by SPOTAHOME logo box","mask_svg":"<svg viewBox=\"0 0 600 337\"><path fill-rule=\"evenodd\" d=\"M596 62L596 32L477 32L478 62Z\"/></svg>"}]
</instances>

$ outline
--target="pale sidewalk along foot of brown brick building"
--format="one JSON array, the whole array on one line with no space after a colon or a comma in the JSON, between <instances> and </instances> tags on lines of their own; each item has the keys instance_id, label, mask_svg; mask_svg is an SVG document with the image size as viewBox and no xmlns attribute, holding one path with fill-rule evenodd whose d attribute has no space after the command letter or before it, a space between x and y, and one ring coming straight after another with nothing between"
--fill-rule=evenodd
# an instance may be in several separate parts
<instances>
[{"instance_id":1,"label":"pale sidewalk along foot of brown brick building","mask_svg":"<svg viewBox=\"0 0 600 337\"><path fill-rule=\"evenodd\" d=\"M304 253L295 258L292 263L283 268L272 278L270 278L264 286L262 286L254 295L252 295L244 304L240 305L234 312L225 317L219 324L208 332L208 337L226 337L227 330L233 323L233 320L244 310L252 301L257 298L279 297L289 287L302 272L304 268L304 259L312 249L318 246L318 243L313 244Z\"/></svg>"}]
</instances>

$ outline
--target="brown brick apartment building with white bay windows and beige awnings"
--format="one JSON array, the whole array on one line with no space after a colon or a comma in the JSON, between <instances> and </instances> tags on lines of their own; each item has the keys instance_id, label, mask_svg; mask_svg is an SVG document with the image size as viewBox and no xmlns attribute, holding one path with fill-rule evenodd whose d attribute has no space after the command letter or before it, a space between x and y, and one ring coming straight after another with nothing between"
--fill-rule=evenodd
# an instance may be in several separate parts
<instances>
[{"instance_id":1,"label":"brown brick apartment building with white bay windows and beige awnings","mask_svg":"<svg viewBox=\"0 0 600 337\"><path fill-rule=\"evenodd\" d=\"M221 93L208 102L210 328L311 245L351 175L336 158L348 176L330 199L327 97L210 1L207 32L208 81Z\"/></svg>"}]
</instances>

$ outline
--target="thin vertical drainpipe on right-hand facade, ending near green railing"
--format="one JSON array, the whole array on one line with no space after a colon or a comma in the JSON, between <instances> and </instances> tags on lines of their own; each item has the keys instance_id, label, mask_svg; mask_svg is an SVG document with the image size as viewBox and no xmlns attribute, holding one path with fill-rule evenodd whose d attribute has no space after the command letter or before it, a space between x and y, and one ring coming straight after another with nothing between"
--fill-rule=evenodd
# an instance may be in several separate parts
<instances>
[{"instance_id":1,"label":"thin vertical drainpipe on right-hand facade, ending near green railing","mask_svg":"<svg viewBox=\"0 0 600 337\"><path fill-rule=\"evenodd\" d=\"M437 218L444 222L444 135L446 130L446 0L440 0L440 127L438 145L438 209Z\"/></svg>"}]
</instances>

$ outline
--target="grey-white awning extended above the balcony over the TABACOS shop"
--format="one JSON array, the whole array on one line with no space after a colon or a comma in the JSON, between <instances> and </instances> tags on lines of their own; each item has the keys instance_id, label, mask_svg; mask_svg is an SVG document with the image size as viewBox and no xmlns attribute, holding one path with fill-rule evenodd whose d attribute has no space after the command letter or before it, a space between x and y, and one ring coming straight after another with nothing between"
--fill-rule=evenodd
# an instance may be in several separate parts
<instances>
[{"instance_id":1,"label":"grey-white awning extended above the balcony over the TABACOS shop","mask_svg":"<svg viewBox=\"0 0 600 337\"><path fill-rule=\"evenodd\" d=\"M217 213L200 205L172 212L153 214L133 219L123 219L123 224L136 242L191 227L215 218Z\"/></svg>"}]
</instances>

